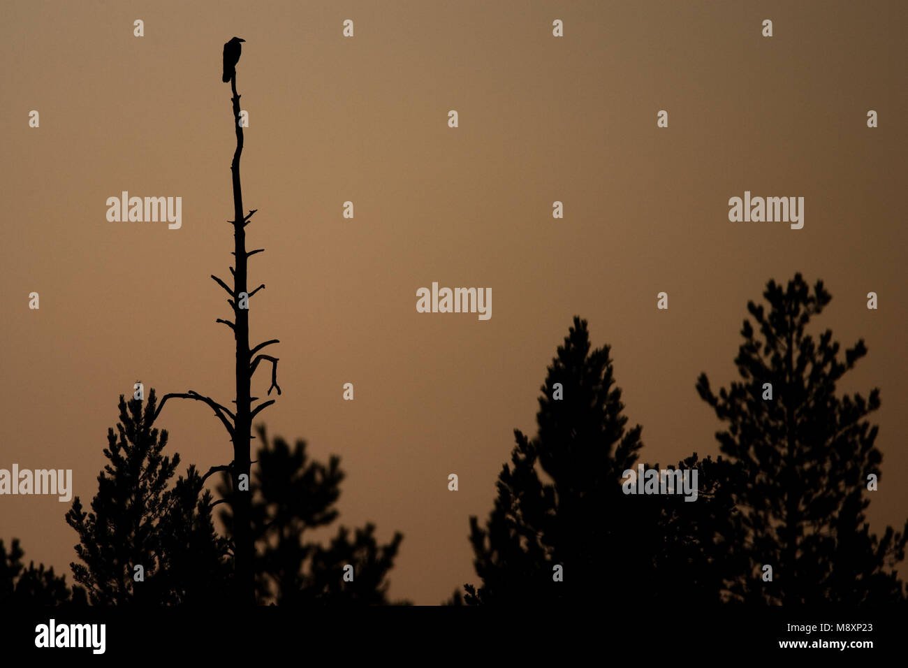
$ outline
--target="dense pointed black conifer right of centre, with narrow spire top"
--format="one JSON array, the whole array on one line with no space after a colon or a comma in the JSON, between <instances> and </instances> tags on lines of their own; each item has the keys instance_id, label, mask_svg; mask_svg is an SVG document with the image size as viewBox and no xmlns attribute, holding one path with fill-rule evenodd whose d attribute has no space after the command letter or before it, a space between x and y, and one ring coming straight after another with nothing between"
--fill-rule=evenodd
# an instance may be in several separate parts
<instances>
[{"instance_id":1,"label":"dense pointed black conifer right of centre, with narrow spire top","mask_svg":"<svg viewBox=\"0 0 908 668\"><path fill-rule=\"evenodd\" d=\"M620 486L637 462L641 427L625 428L609 351L590 351L587 322L575 316L541 388L538 436L514 431L486 528L469 518L482 585L465 585L467 603L601 601L646 582L654 552L646 542L656 539L630 536L652 511L628 503ZM553 398L557 383L563 399ZM554 581L557 565L563 582Z\"/></svg>"}]
</instances>

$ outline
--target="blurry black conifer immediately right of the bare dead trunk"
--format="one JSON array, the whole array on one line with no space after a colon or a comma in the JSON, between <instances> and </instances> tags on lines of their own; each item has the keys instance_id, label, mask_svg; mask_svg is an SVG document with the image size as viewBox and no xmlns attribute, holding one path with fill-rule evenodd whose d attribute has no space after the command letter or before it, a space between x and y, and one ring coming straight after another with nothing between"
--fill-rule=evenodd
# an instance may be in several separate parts
<instances>
[{"instance_id":1,"label":"blurry black conifer immediately right of the bare dead trunk","mask_svg":"<svg viewBox=\"0 0 908 668\"><path fill-rule=\"evenodd\" d=\"M312 461L304 440L297 440L291 448L280 437L270 442L263 427L257 431L262 445L251 491L261 602L389 603L386 578L403 535L395 533L390 543L380 545L374 536L375 526L369 523L355 530L352 541L343 526L327 547L307 541L309 533L338 517L334 504L344 478L341 460L332 456L327 465ZM219 491L224 493L228 488L229 479L225 478ZM221 517L231 532L230 510L223 511ZM344 580L346 564L353 567L352 582Z\"/></svg>"}]
</instances>

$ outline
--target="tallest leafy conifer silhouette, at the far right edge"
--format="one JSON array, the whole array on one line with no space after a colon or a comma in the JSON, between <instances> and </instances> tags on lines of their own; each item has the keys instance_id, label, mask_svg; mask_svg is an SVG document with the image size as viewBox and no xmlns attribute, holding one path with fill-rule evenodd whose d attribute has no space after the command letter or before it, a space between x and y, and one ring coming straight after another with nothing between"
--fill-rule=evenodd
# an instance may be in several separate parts
<instances>
[{"instance_id":1,"label":"tallest leafy conifer silhouette, at the far right edge","mask_svg":"<svg viewBox=\"0 0 908 668\"><path fill-rule=\"evenodd\" d=\"M743 513L749 571L735 584L737 600L764 603L880 603L903 600L893 571L904 558L908 522L883 538L864 520L867 476L882 480L878 433L864 418L880 391L839 397L836 384L867 354L864 340L845 351L825 330L806 333L831 296L817 281L811 294L801 274L784 289L770 280L762 304L748 302L735 364L743 381L718 396L701 374L696 389L727 429L716 434L723 453L744 465L736 491ZM764 399L764 384L773 398ZM759 577L773 567L773 581Z\"/></svg>"}]
</instances>

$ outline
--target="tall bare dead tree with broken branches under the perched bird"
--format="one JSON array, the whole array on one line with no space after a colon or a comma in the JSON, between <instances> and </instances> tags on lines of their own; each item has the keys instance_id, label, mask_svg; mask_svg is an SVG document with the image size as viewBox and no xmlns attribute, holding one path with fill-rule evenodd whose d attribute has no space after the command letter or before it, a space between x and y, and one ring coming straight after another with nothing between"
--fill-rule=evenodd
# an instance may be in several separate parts
<instances>
[{"instance_id":1,"label":"tall bare dead tree with broken branches under the perched bird","mask_svg":"<svg viewBox=\"0 0 908 668\"><path fill-rule=\"evenodd\" d=\"M252 209L249 214L242 214L242 186L240 184L240 156L242 155L242 125L240 125L240 95L236 92L236 72L233 72L231 79L233 91L233 127L236 131L236 149L233 152L233 161L231 164L231 173L233 176L233 220L228 221L233 224L233 256L236 266L231 267L233 274L233 289L231 289L220 278L212 274L212 279L221 285L224 291L230 295L227 300L233 309L234 321L222 320L218 318L217 322L229 326L236 339L236 413L218 404L210 397L203 396L192 390L185 394L165 394L158 406L154 417L161 413L164 403L170 399L193 399L202 401L212 407L214 414L221 420L227 433L230 434L233 442L233 461L231 464L222 466L212 466L208 473L202 476L206 480L215 472L222 471L231 474L232 491L230 497L226 499L231 504L233 514L233 560L235 568L235 591L234 600L236 603L254 604L255 603L255 572L253 561L255 556L254 538L252 536L252 495L250 488L250 467L252 461L251 441L252 441L252 419L262 412L262 410L274 403L273 399L267 400L252 408L252 402L258 401L258 397L253 397L251 393L252 374L255 373L259 363L271 362L271 386L268 388L268 394L271 390L276 389L281 394L281 387L277 384L277 367L278 359L266 354L257 354L267 345L279 343L277 339L265 341L256 345L254 348L249 347L249 300L252 295L264 287L259 285L251 293L247 291L246 285L246 265L251 255L261 253L262 248L246 252L246 225L249 224L252 214L257 209ZM244 306L243 304L247 304ZM245 480L241 480L245 476Z\"/></svg>"}]
</instances>

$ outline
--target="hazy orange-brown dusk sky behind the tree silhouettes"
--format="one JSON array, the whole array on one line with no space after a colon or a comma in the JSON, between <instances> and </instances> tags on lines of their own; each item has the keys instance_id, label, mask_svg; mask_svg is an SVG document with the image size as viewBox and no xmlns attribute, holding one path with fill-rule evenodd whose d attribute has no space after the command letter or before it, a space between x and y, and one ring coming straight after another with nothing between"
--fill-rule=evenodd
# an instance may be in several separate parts
<instances>
[{"instance_id":1,"label":"hazy orange-brown dusk sky behind the tree silhouettes","mask_svg":"<svg viewBox=\"0 0 908 668\"><path fill-rule=\"evenodd\" d=\"M262 417L321 460L341 455L341 523L404 533L393 598L439 603L478 583L469 515L488 516L513 429L535 434L572 315L612 345L643 461L674 463L718 452L722 424L696 377L736 378L747 300L795 272L833 295L811 331L868 346L838 390L881 388L869 517L878 532L901 526L908 4L216 6L0 4L0 468L71 468L87 504L118 396L137 379L159 396L234 396L232 334L214 322L230 307L209 274L229 279L232 262L221 74L238 35L243 200L259 209L247 241L266 249L250 260L250 286L267 285L252 298L252 341L281 340L270 350L283 394ZM181 196L182 228L108 222L105 200L123 190ZM745 190L804 196L804 228L729 222L728 199ZM417 313L416 290L433 281L490 287L491 319ZM232 458L202 404L168 403L158 426L184 464ZM69 505L2 496L0 538L21 538L26 561L71 583Z\"/></svg>"}]
</instances>

